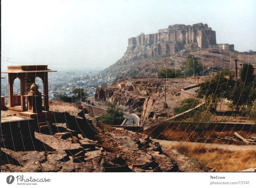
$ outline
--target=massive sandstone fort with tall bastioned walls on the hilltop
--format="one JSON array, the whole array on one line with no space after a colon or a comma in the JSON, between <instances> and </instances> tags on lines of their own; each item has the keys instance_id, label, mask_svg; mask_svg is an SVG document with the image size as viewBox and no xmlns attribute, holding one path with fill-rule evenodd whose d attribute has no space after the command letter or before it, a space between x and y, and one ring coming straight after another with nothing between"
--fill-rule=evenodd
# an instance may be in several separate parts
<instances>
[{"instance_id":1,"label":"massive sandstone fort with tall bastioned walls on the hilltop","mask_svg":"<svg viewBox=\"0 0 256 188\"><path fill-rule=\"evenodd\" d=\"M220 48L234 51L233 44L217 44L216 32L207 24L175 24L159 29L155 34L141 33L128 39L127 54L141 52L141 56L174 54L186 48Z\"/></svg>"}]
</instances>

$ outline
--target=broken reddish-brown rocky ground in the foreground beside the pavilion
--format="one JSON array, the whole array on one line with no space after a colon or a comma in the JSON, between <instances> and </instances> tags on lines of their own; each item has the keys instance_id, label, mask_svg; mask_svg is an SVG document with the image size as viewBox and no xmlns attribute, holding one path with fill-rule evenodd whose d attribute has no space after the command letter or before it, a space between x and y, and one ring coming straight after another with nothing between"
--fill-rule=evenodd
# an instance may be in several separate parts
<instances>
[{"instance_id":1,"label":"broken reddish-brown rocky ground in the foreground beside the pavilion","mask_svg":"<svg viewBox=\"0 0 256 188\"><path fill-rule=\"evenodd\" d=\"M58 106L59 105L59 106ZM67 106L71 115L62 110ZM1 146L3 172L155 172L210 171L203 164L168 151L150 137L98 125L81 109L54 101L56 124L35 139ZM52 107L51 107L52 108ZM64 108L65 109L65 108ZM72 114L73 113L73 114ZM62 116L61 116L62 114ZM61 123L62 121L62 123ZM72 130L72 129L73 130Z\"/></svg>"}]
</instances>

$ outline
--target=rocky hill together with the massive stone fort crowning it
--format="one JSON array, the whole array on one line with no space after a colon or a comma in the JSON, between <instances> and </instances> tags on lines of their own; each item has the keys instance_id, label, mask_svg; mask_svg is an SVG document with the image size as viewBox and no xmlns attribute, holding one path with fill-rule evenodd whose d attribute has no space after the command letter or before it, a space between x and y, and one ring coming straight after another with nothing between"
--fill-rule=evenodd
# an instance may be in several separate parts
<instances>
[{"instance_id":1,"label":"rocky hill together with the massive stone fort crowning it","mask_svg":"<svg viewBox=\"0 0 256 188\"><path fill-rule=\"evenodd\" d=\"M176 24L160 29L155 34L141 33L128 39L124 56L101 73L109 72L118 76L118 79L127 76L152 77L162 67L184 70L184 62L190 54L208 72L234 70L235 59L238 59L238 65L248 62L254 64L256 59L255 52L238 52L234 51L233 44L217 44L216 32L207 24Z\"/></svg>"}]
</instances>

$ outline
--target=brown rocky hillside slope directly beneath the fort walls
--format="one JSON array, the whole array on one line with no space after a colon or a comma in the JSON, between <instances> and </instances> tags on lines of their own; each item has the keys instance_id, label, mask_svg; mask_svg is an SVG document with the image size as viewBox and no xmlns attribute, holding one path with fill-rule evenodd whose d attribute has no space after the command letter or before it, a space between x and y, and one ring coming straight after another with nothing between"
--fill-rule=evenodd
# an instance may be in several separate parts
<instances>
[{"instance_id":1,"label":"brown rocky hillside slope directly beneath the fort walls","mask_svg":"<svg viewBox=\"0 0 256 188\"><path fill-rule=\"evenodd\" d=\"M109 66L101 73L109 72L118 79L131 77L156 77L157 72L162 67L182 68L187 61L188 56L192 54L197 58L199 63L204 65L204 68L211 74L212 71L218 70L233 70L235 71L235 59L240 63L252 63L254 66L256 55L249 55L229 50L219 49L191 49L191 51L177 52L169 55L155 55L145 58L140 55L139 51L133 51L130 54L126 51L124 56L115 64ZM117 79L117 81L118 81Z\"/></svg>"}]
</instances>

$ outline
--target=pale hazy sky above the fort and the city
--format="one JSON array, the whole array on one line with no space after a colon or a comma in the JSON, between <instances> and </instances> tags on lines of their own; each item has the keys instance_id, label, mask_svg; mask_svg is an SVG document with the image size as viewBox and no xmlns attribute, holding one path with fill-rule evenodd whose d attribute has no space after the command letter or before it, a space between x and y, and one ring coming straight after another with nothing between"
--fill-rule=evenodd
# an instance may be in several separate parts
<instances>
[{"instance_id":1,"label":"pale hazy sky above the fort and the city","mask_svg":"<svg viewBox=\"0 0 256 188\"><path fill-rule=\"evenodd\" d=\"M207 23L217 43L256 50L255 10L254 0L2 0L2 70L102 70L123 56L128 38L173 24Z\"/></svg>"}]
</instances>

